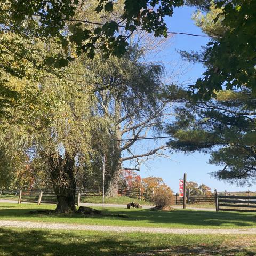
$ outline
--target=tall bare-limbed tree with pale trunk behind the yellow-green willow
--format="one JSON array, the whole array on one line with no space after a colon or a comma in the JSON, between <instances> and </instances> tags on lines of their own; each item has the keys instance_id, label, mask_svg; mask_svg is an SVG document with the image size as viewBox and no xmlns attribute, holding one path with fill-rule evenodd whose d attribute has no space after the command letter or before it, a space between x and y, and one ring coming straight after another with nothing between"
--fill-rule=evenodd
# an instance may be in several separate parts
<instances>
[{"instance_id":1,"label":"tall bare-limbed tree with pale trunk behind the yellow-green willow","mask_svg":"<svg viewBox=\"0 0 256 256\"><path fill-rule=\"evenodd\" d=\"M161 46L159 42L156 44ZM157 97L165 87L161 81L164 67L158 63L144 63L143 53L145 50L134 43L121 58L109 57L105 60L102 54L98 54L93 61L86 63L98 76L98 89L101 89L95 93L98 114L107 118L112 127L109 133L112 138L110 151L104 153L107 196L117 195L125 161L137 161L137 166L133 168L139 169L138 165L143 160L161 155L166 148L164 144L145 147L140 152L134 148L138 139L145 138L147 133L159 132L168 104L168 101ZM102 172L99 167L98 170Z\"/></svg>"}]
</instances>

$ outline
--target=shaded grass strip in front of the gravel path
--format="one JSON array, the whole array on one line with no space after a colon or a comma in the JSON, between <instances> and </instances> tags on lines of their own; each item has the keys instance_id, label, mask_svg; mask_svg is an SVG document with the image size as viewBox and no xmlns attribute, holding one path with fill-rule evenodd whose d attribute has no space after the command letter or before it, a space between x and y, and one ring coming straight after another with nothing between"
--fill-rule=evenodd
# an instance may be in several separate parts
<instances>
[{"instance_id":1,"label":"shaded grass strip in front of the gravel path","mask_svg":"<svg viewBox=\"0 0 256 256\"><path fill-rule=\"evenodd\" d=\"M0 229L1 256L255 255L250 235L105 233Z\"/></svg>"}]
</instances>

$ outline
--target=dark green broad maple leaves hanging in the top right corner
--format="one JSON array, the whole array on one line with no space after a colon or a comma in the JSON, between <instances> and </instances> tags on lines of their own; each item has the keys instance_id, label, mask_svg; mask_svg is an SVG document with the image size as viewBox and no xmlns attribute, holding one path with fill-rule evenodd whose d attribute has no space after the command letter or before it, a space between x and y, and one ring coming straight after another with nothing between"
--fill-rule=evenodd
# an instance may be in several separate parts
<instances>
[{"instance_id":1,"label":"dark green broad maple leaves hanging in the top right corner","mask_svg":"<svg viewBox=\"0 0 256 256\"><path fill-rule=\"evenodd\" d=\"M203 61L207 71L194 89L198 98L209 100L214 91L247 87L256 92L256 2L220 1L221 12L213 19L226 27L217 42L206 45ZM214 11L214 10L213 10ZM210 22L210 21L207 21Z\"/></svg>"}]
</instances>

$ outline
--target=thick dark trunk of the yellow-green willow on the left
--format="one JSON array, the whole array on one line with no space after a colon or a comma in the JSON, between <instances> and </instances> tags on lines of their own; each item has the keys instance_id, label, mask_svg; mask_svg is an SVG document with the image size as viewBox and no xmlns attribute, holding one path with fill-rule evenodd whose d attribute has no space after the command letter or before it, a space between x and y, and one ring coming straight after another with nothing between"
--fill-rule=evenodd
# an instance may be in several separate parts
<instances>
[{"instance_id":1,"label":"thick dark trunk of the yellow-green willow on the left","mask_svg":"<svg viewBox=\"0 0 256 256\"><path fill-rule=\"evenodd\" d=\"M55 213L69 213L76 211L75 206L75 157L59 156L49 158L51 181L57 197Z\"/></svg>"}]
</instances>

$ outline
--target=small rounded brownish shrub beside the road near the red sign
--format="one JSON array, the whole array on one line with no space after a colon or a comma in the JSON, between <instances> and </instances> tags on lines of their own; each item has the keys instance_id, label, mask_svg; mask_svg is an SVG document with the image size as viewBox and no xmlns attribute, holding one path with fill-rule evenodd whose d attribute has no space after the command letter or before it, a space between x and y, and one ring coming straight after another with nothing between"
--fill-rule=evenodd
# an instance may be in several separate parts
<instances>
[{"instance_id":1,"label":"small rounded brownish shrub beside the road near the red sign","mask_svg":"<svg viewBox=\"0 0 256 256\"><path fill-rule=\"evenodd\" d=\"M172 205L174 203L173 191L166 184L159 186L153 196L153 202L161 208Z\"/></svg>"}]
</instances>

